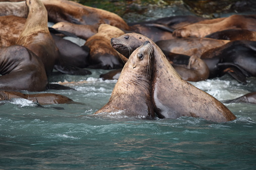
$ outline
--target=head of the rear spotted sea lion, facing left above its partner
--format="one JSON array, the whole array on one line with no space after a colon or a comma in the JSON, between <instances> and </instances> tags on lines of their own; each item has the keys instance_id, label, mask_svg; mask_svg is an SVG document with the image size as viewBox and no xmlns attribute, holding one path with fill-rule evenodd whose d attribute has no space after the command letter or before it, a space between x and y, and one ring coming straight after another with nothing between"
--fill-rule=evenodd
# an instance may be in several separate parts
<instances>
[{"instance_id":1,"label":"head of the rear spotted sea lion, facing left above its partner","mask_svg":"<svg viewBox=\"0 0 256 170\"><path fill-rule=\"evenodd\" d=\"M133 51L147 40L148 38L141 34L127 33L120 37L112 38L110 43L116 51L124 57L129 58Z\"/></svg>"}]
</instances>

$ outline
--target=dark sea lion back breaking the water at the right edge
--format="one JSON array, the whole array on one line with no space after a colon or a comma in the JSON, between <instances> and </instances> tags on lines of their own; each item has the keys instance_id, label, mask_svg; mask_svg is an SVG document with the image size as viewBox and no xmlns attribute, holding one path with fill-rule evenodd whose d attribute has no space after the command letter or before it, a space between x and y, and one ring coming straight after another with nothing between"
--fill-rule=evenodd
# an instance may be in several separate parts
<instances>
[{"instance_id":1,"label":"dark sea lion back breaking the water at the right edge","mask_svg":"<svg viewBox=\"0 0 256 170\"><path fill-rule=\"evenodd\" d=\"M256 92L247 93L231 100L223 100L223 103L250 103L256 104Z\"/></svg>"}]
</instances>

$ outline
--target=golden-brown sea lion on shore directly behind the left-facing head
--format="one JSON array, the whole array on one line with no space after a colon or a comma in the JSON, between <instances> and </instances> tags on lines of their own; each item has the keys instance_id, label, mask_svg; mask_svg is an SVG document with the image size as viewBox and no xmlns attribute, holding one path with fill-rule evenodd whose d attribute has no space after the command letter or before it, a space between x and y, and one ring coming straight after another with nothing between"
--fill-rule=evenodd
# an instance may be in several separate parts
<instances>
[{"instance_id":1,"label":"golden-brown sea lion on shore directly behind the left-facing head","mask_svg":"<svg viewBox=\"0 0 256 170\"><path fill-rule=\"evenodd\" d=\"M98 33L90 37L85 46L90 48L89 68L117 69L122 68L127 61L125 57L116 52L110 45L112 37L119 37L124 32L117 27L101 24Z\"/></svg>"}]
</instances>

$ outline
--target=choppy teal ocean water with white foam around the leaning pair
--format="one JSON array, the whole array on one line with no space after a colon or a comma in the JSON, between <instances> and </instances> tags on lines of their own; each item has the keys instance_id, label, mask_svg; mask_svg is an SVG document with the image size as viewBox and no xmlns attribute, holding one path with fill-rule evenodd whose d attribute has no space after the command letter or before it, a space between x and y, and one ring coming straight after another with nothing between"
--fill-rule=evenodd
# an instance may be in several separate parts
<instances>
[{"instance_id":1,"label":"choppy teal ocean water with white foam around the leaning pair","mask_svg":"<svg viewBox=\"0 0 256 170\"><path fill-rule=\"evenodd\" d=\"M91 71L54 72L51 82L74 81L66 85L76 91L44 91L84 104L0 103L0 169L256 169L256 105L226 104L237 119L224 123L92 116L116 80ZM219 100L256 91L256 78L247 85L228 76L192 84Z\"/></svg>"}]
</instances>

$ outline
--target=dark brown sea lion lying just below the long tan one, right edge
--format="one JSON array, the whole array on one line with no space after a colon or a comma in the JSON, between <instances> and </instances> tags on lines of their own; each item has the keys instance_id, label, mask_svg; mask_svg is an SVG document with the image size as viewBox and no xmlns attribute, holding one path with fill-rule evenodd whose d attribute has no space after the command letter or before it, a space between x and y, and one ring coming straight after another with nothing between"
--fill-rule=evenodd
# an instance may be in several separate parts
<instances>
[{"instance_id":1,"label":"dark brown sea lion lying just below the long tan one, right edge","mask_svg":"<svg viewBox=\"0 0 256 170\"><path fill-rule=\"evenodd\" d=\"M249 30L240 30L240 29L229 29L218 31L207 35L206 38L218 39L218 40L249 40L256 41L256 32Z\"/></svg>"}]
</instances>

